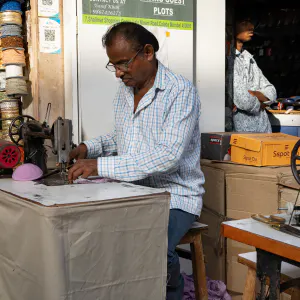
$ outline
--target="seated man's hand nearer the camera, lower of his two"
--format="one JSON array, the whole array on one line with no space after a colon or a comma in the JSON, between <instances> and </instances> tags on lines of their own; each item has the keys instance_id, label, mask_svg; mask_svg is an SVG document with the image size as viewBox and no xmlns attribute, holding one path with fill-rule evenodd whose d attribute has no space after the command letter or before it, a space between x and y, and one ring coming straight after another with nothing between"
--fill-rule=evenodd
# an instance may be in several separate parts
<instances>
[{"instance_id":1,"label":"seated man's hand nearer the camera, lower of his two","mask_svg":"<svg viewBox=\"0 0 300 300\"><path fill-rule=\"evenodd\" d=\"M97 159L79 159L68 172L68 180L72 183L79 176L87 178L89 176L97 176Z\"/></svg>"}]
</instances>

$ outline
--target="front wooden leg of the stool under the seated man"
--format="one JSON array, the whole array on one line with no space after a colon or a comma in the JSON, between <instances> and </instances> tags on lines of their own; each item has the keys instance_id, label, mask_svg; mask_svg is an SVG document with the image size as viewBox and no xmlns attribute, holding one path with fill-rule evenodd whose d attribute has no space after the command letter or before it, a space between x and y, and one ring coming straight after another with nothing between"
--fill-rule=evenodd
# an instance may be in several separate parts
<instances>
[{"instance_id":1,"label":"front wooden leg of the stool under the seated man","mask_svg":"<svg viewBox=\"0 0 300 300\"><path fill-rule=\"evenodd\" d=\"M198 234L191 245L193 274L195 283L196 300L207 300L207 285L204 255L202 249L201 235Z\"/></svg>"}]
</instances>

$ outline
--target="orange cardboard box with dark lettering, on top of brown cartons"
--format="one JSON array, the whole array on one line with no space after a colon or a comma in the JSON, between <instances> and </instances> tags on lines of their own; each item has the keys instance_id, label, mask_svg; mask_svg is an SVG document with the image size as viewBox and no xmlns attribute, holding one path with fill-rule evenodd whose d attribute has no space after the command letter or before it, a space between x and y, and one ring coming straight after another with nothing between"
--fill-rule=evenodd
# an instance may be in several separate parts
<instances>
[{"instance_id":1,"label":"orange cardboard box with dark lettering, on top of brown cartons","mask_svg":"<svg viewBox=\"0 0 300 300\"><path fill-rule=\"evenodd\" d=\"M283 134L233 134L231 161L250 166L290 165L291 152L298 137Z\"/></svg>"}]
</instances>

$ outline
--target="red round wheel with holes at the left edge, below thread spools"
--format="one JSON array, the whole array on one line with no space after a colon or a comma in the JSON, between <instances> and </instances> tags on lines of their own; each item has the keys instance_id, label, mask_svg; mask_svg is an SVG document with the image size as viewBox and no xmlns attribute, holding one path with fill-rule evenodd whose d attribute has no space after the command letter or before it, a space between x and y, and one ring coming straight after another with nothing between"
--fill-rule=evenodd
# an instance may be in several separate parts
<instances>
[{"instance_id":1,"label":"red round wheel with holes at the left edge, below thread spools","mask_svg":"<svg viewBox=\"0 0 300 300\"><path fill-rule=\"evenodd\" d=\"M12 169L21 160L21 152L17 145L0 140L0 168Z\"/></svg>"}]
</instances>

